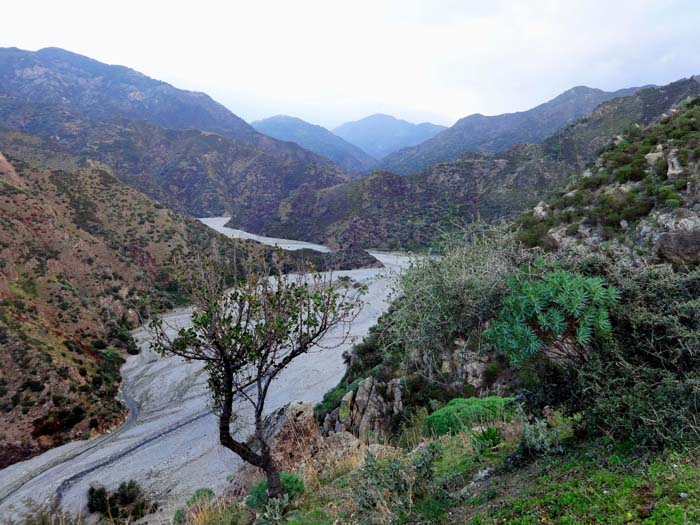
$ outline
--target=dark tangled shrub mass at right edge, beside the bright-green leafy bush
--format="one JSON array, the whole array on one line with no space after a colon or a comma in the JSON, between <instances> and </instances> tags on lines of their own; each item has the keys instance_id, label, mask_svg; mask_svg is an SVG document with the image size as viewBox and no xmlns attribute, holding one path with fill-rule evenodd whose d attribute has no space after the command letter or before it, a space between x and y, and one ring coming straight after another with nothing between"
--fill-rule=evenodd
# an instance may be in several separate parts
<instances>
[{"instance_id":1,"label":"dark tangled shrub mass at right edge, beside the bright-green leafy bush","mask_svg":"<svg viewBox=\"0 0 700 525\"><path fill-rule=\"evenodd\" d=\"M609 265L621 291L614 337L580 370L589 428L639 446L695 439L700 429L700 271Z\"/></svg>"}]
</instances>

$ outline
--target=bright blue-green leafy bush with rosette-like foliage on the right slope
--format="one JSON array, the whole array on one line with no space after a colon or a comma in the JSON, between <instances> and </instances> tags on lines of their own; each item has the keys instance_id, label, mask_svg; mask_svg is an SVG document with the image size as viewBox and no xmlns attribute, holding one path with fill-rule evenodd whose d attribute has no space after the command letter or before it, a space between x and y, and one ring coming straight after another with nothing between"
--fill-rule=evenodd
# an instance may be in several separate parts
<instances>
[{"instance_id":1,"label":"bright blue-green leafy bush with rosette-like foliage on the right slope","mask_svg":"<svg viewBox=\"0 0 700 525\"><path fill-rule=\"evenodd\" d=\"M485 331L489 344L519 365L539 352L551 359L584 363L594 336L609 335L609 308L620 294L601 277L553 270L507 280L498 318Z\"/></svg>"}]
</instances>

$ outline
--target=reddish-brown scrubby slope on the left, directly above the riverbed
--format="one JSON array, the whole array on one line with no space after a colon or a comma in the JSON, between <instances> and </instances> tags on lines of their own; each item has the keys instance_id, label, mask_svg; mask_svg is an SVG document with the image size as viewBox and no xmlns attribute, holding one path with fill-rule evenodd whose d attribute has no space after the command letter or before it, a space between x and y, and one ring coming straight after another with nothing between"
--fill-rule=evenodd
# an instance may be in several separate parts
<instances>
[{"instance_id":1,"label":"reddish-brown scrubby slope on the left, directly above the riverbed","mask_svg":"<svg viewBox=\"0 0 700 525\"><path fill-rule=\"evenodd\" d=\"M0 467L120 422L119 366L137 351L128 330L149 304L183 299L175 254L239 272L255 245L166 209L105 165L63 162L0 155Z\"/></svg>"}]
</instances>

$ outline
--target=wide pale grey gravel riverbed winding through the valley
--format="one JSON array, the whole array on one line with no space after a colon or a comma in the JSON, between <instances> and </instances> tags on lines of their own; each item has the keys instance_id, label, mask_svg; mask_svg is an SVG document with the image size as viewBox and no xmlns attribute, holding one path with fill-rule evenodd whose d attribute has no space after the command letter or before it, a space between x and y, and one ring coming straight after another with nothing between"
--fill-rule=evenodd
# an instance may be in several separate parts
<instances>
[{"instance_id":1,"label":"wide pale grey gravel riverbed winding through the valley","mask_svg":"<svg viewBox=\"0 0 700 525\"><path fill-rule=\"evenodd\" d=\"M328 249L287 239L271 239L226 228L223 217L201 219L221 233L253 238L285 249ZM270 391L267 411L290 401L318 402L345 372L342 353L364 337L386 310L391 284L407 257L375 253L384 269L336 272L367 285L365 306L350 328L350 339L336 348L316 350L293 362ZM172 311L165 321L172 330L186 326L190 309ZM326 343L340 338L329 333ZM122 368L121 397L129 408L125 423L115 431L86 441L49 450L30 460L0 470L0 523L14 518L27 499L43 502L58 498L68 510L85 508L91 484L108 488L135 479L159 501L166 518L197 488L221 491L240 460L218 445L216 421L208 408L206 376L197 363L160 357L149 348L145 328L134 331L141 353ZM241 407L238 431L250 428Z\"/></svg>"}]
</instances>

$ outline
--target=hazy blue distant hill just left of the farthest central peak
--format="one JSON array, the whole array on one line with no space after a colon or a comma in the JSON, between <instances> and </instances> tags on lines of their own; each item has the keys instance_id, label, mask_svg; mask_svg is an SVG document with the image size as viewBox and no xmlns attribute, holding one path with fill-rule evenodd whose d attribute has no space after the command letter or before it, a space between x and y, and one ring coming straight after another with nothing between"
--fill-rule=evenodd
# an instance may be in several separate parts
<instances>
[{"instance_id":1,"label":"hazy blue distant hill just left of the farthest central peak","mask_svg":"<svg viewBox=\"0 0 700 525\"><path fill-rule=\"evenodd\" d=\"M376 159L360 148L344 141L326 128L309 124L295 117L278 115L257 120L251 125L260 133L279 140L295 142L302 148L326 157L353 173L367 171L377 163Z\"/></svg>"}]
</instances>

